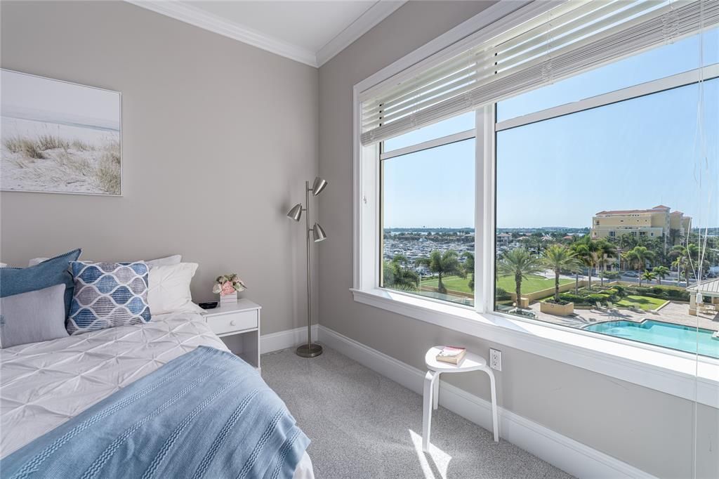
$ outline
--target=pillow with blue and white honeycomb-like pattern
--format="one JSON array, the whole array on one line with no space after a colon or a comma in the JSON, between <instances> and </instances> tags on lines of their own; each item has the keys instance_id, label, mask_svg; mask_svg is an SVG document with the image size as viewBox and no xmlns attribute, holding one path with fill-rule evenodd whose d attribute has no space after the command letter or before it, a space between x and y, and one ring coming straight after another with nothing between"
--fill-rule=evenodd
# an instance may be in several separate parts
<instances>
[{"instance_id":1,"label":"pillow with blue and white honeycomb-like pattern","mask_svg":"<svg viewBox=\"0 0 719 479\"><path fill-rule=\"evenodd\" d=\"M68 332L81 334L150 321L147 304L148 271L144 261L134 263L70 263L75 293Z\"/></svg>"}]
</instances>

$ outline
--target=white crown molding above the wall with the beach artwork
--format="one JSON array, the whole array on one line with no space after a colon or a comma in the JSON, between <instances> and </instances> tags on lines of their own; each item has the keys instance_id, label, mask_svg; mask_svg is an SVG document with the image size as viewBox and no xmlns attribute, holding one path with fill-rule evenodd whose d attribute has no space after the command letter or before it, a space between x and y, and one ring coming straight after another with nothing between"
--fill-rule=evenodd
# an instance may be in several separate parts
<instances>
[{"instance_id":1,"label":"white crown molding above the wall with the beach artwork","mask_svg":"<svg viewBox=\"0 0 719 479\"><path fill-rule=\"evenodd\" d=\"M267 50L276 55L290 58L300 63L305 63L313 67L317 67L317 55L303 47L298 47L292 43L270 37L257 30L250 29L226 19L217 17L196 6L188 5L182 1L162 1L162 0L125 0L130 4L141 6L152 12L171 17L180 22L185 22L195 27L209 30L210 32L232 38L239 42L247 43L253 47Z\"/></svg>"}]
</instances>

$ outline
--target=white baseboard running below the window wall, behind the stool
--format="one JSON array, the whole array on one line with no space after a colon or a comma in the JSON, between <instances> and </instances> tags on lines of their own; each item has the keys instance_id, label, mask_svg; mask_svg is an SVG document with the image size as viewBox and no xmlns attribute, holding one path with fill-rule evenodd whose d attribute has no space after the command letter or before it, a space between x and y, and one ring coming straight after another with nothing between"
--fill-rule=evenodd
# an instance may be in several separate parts
<instances>
[{"instance_id":1,"label":"white baseboard running below the window wall, behind the stool","mask_svg":"<svg viewBox=\"0 0 719 479\"><path fill-rule=\"evenodd\" d=\"M373 350L324 326L318 340L381 375L422 393L424 372L383 352ZM263 337L264 339L264 337ZM491 403L442 381L439 403L487 430L492 429ZM541 426L530 419L499 408L500 437L577 478L653 478L631 465Z\"/></svg>"}]
</instances>

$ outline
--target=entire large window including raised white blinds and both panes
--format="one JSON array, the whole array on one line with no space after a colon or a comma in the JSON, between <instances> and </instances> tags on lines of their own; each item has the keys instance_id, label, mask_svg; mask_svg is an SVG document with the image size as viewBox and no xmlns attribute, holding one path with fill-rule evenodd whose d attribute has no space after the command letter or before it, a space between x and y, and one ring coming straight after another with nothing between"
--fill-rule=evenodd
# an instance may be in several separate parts
<instances>
[{"instance_id":1,"label":"entire large window including raised white blinds and both panes","mask_svg":"<svg viewBox=\"0 0 719 479\"><path fill-rule=\"evenodd\" d=\"M355 298L719 360L719 6L530 8L360 90Z\"/></svg>"}]
</instances>

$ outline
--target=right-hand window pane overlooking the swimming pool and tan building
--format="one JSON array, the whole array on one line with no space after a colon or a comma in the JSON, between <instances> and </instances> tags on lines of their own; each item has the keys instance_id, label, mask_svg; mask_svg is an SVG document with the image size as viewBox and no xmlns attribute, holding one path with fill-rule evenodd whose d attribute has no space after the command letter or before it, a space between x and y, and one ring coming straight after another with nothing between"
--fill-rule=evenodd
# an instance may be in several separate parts
<instances>
[{"instance_id":1,"label":"right-hand window pane overlooking the swimming pool and tan building","mask_svg":"<svg viewBox=\"0 0 719 479\"><path fill-rule=\"evenodd\" d=\"M719 358L717 32L497 104L495 311Z\"/></svg>"}]
</instances>

